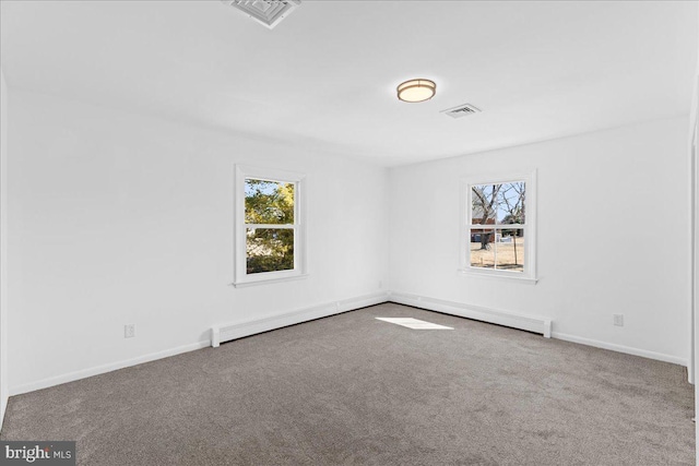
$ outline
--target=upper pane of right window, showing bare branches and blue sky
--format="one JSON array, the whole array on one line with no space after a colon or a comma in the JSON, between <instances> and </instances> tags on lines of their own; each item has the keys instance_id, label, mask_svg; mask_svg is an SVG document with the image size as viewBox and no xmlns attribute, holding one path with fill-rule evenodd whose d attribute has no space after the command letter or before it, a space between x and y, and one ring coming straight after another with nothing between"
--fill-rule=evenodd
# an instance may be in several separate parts
<instances>
[{"instance_id":1,"label":"upper pane of right window, showing bare branches and blue sky","mask_svg":"<svg viewBox=\"0 0 699 466\"><path fill-rule=\"evenodd\" d=\"M524 181L471 188L472 225L524 224Z\"/></svg>"}]
</instances>

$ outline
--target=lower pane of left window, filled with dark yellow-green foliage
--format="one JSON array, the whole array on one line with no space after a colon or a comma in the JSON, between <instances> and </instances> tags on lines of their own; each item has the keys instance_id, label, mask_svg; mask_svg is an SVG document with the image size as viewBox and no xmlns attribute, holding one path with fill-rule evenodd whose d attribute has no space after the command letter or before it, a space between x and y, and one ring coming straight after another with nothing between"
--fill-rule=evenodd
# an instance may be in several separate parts
<instances>
[{"instance_id":1,"label":"lower pane of left window, filled with dark yellow-green foliage","mask_svg":"<svg viewBox=\"0 0 699 466\"><path fill-rule=\"evenodd\" d=\"M294 270L294 229L247 228L247 273Z\"/></svg>"}]
</instances>

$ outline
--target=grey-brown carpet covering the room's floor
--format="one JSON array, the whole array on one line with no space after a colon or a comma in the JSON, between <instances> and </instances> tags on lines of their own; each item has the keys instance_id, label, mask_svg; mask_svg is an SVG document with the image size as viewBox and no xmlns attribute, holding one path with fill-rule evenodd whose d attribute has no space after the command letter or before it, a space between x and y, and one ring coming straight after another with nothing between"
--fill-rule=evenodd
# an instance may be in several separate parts
<instances>
[{"instance_id":1,"label":"grey-brown carpet covering the room's floor","mask_svg":"<svg viewBox=\"0 0 699 466\"><path fill-rule=\"evenodd\" d=\"M0 438L99 466L691 465L692 416L679 366L387 303L13 396Z\"/></svg>"}]
</instances>

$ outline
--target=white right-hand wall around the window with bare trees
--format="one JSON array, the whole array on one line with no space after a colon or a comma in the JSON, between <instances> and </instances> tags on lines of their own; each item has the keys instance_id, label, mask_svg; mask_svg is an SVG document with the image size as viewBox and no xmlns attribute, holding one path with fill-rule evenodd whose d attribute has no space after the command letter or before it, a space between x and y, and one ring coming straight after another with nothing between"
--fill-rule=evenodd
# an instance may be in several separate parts
<instances>
[{"instance_id":1,"label":"white right-hand wall around the window with bare trees","mask_svg":"<svg viewBox=\"0 0 699 466\"><path fill-rule=\"evenodd\" d=\"M537 314L554 336L686 363L687 128L661 120L391 169L391 290ZM458 274L460 178L529 169L538 284Z\"/></svg>"}]
</instances>

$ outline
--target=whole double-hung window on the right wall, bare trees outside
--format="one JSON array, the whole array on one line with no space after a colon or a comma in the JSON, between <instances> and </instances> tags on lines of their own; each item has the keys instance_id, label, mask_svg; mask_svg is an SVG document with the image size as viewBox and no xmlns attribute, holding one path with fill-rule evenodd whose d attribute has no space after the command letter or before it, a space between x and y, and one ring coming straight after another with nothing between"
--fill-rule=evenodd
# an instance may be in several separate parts
<instances>
[{"instance_id":1,"label":"whole double-hung window on the right wall, bare trees outside","mask_svg":"<svg viewBox=\"0 0 699 466\"><path fill-rule=\"evenodd\" d=\"M461 271L536 280L535 175L462 184Z\"/></svg>"}]
</instances>

